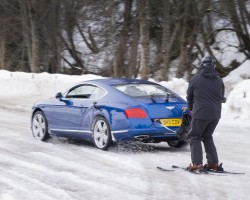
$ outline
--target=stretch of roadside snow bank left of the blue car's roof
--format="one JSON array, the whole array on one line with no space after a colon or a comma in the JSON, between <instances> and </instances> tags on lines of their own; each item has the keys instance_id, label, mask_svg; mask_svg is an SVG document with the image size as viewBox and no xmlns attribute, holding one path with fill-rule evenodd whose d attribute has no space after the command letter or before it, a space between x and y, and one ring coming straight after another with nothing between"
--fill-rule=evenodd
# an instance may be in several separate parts
<instances>
[{"instance_id":1,"label":"stretch of roadside snow bank left of the blue car's roof","mask_svg":"<svg viewBox=\"0 0 250 200\"><path fill-rule=\"evenodd\" d=\"M53 97L78 82L97 78L101 77L0 70L0 108L30 110L40 99Z\"/></svg>"}]
</instances>

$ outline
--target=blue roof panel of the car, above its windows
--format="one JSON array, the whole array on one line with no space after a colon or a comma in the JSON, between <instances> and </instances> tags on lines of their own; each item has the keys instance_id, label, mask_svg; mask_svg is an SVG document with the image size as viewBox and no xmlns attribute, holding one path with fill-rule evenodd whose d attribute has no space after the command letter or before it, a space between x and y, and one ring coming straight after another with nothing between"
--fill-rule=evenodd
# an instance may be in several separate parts
<instances>
[{"instance_id":1,"label":"blue roof panel of the car, above its windows","mask_svg":"<svg viewBox=\"0 0 250 200\"><path fill-rule=\"evenodd\" d=\"M151 81L131 78L103 78L94 79L87 82L91 83L102 83L106 85L123 85L123 84L156 84Z\"/></svg>"}]
</instances>

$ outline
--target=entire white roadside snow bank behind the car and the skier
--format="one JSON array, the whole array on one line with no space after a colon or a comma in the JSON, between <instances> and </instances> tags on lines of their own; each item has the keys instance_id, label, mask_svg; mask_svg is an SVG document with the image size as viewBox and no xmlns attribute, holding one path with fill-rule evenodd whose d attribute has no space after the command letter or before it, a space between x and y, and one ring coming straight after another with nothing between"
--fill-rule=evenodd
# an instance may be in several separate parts
<instances>
[{"instance_id":1,"label":"entire white roadside snow bank behind the car and the skier","mask_svg":"<svg viewBox=\"0 0 250 200\"><path fill-rule=\"evenodd\" d=\"M223 117L239 121L250 119L250 80L247 79L249 77L250 61L248 60L223 79L227 91ZM53 97L57 92L63 92L78 82L98 78L102 77L0 70L0 108L31 110L33 103L40 99ZM156 82L152 79L150 81ZM186 98L188 83L184 79L173 78L171 81L161 81L159 84Z\"/></svg>"}]
</instances>

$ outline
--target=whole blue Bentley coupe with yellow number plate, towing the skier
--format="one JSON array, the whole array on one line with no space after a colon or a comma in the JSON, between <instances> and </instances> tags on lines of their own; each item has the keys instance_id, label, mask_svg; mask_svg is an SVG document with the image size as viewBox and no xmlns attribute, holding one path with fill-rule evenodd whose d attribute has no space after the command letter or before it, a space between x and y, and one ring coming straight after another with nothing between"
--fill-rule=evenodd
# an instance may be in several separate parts
<instances>
[{"instance_id":1,"label":"whole blue Bentley coupe with yellow number plate, towing the skier","mask_svg":"<svg viewBox=\"0 0 250 200\"><path fill-rule=\"evenodd\" d=\"M107 149L122 140L186 141L177 137L186 102L173 91L150 81L123 78L81 82L54 98L39 101L32 110L35 139L50 136L89 140Z\"/></svg>"}]
</instances>

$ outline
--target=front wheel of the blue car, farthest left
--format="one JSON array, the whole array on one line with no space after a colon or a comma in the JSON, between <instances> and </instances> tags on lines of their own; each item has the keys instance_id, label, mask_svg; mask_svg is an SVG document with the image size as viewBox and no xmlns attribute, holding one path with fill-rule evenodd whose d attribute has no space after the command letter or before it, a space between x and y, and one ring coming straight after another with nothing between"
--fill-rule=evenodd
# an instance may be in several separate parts
<instances>
[{"instance_id":1,"label":"front wheel of the blue car, farthest left","mask_svg":"<svg viewBox=\"0 0 250 200\"><path fill-rule=\"evenodd\" d=\"M32 134L35 139L46 141L49 138L48 122L42 111L37 111L33 114L31 121Z\"/></svg>"}]
</instances>

